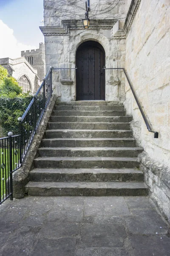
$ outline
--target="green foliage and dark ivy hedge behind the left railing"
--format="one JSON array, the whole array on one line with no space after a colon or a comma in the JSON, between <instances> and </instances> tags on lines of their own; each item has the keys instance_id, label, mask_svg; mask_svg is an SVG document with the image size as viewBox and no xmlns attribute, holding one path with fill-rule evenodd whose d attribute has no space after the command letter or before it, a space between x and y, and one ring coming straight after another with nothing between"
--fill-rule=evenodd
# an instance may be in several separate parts
<instances>
[{"instance_id":1,"label":"green foliage and dark ivy hedge behind the left railing","mask_svg":"<svg viewBox=\"0 0 170 256\"><path fill-rule=\"evenodd\" d=\"M0 121L4 136L8 131L15 135L20 133L17 119L23 115L31 99L30 93L23 93L17 80L0 66Z\"/></svg>"}]
</instances>

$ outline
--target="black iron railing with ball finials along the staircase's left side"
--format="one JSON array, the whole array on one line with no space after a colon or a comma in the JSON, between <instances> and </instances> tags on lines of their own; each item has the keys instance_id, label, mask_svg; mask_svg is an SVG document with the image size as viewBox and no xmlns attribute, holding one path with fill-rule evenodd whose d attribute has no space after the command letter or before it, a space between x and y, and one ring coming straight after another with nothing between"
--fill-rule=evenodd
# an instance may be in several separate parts
<instances>
[{"instance_id":1,"label":"black iron railing with ball finials along the staircase's left side","mask_svg":"<svg viewBox=\"0 0 170 256\"><path fill-rule=\"evenodd\" d=\"M20 122L20 134L0 138L0 204L10 197L12 200L12 173L23 163L42 115L52 95L52 67L45 76L37 93L34 94Z\"/></svg>"}]
</instances>

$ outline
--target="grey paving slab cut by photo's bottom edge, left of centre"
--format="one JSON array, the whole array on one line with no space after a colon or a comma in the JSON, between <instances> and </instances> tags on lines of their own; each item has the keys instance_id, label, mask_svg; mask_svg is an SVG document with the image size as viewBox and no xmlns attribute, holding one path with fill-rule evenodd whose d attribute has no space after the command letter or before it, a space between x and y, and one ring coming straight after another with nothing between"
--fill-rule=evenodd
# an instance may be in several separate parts
<instances>
[{"instance_id":1,"label":"grey paving slab cut by photo's bottom edge, left of centre","mask_svg":"<svg viewBox=\"0 0 170 256\"><path fill-rule=\"evenodd\" d=\"M39 239L31 256L74 256L76 239Z\"/></svg>"}]
</instances>

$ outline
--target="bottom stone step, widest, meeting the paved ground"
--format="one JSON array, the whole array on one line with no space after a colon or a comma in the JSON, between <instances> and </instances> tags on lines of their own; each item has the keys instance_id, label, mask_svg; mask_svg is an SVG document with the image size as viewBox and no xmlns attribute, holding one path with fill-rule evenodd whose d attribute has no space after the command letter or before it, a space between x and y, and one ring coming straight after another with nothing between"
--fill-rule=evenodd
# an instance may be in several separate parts
<instances>
[{"instance_id":1,"label":"bottom stone step, widest, meeting the paved ground","mask_svg":"<svg viewBox=\"0 0 170 256\"><path fill-rule=\"evenodd\" d=\"M32 196L146 196L143 182L33 182L25 186Z\"/></svg>"}]
</instances>

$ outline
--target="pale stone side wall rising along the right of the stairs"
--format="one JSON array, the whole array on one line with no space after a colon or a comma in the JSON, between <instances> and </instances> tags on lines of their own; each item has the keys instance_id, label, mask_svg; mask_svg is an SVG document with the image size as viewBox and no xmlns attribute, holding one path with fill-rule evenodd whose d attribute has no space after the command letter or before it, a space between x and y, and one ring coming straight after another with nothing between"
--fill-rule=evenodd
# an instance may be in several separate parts
<instances>
[{"instance_id":1,"label":"pale stone side wall rising along the right of the stairs","mask_svg":"<svg viewBox=\"0 0 170 256\"><path fill-rule=\"evenodd\" d=\"M133 136L144 148L159 174L143 162L151 196L170 218L170 2L141 1L126 38L126 70L144 113L159 138L147 131L129 85L125 84L125 107L133 115ZM166 178L165 178L166 177ZM166 180L165 180L166 179ZM161 186L160 186L160 184ZM165 206L166 201L166 206Z\"/></svg>"}]
</instances>

